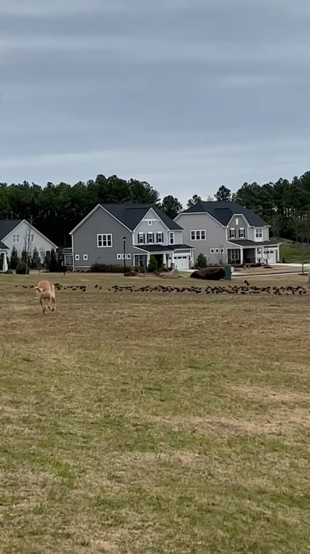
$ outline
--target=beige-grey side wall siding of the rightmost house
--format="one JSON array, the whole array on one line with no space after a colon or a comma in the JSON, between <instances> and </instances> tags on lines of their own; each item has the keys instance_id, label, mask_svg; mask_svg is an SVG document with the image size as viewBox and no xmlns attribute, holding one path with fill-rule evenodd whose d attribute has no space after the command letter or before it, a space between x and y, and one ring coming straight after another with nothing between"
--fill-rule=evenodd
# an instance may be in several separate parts
<instances>
[{"instance_id":1,"label":"beige-grey side wall siding of the rightmost house","mask_svg":"<svg viewBox=\"0 0 310 554\"><path fill-rule=\"evenodd\" d=\"M183 242L195 248L195 260L199 254L204 254L208 259L208 264L220 264L226 261L226 249L234 247L226 240L226 229L209 214L180 214L176 221L184 229ZM206 240L192 240L190 237L192 230L205 230ZM214 250L224 248L224 254L211 254L210 249L213 248Z\"/></svg>"}]
</instances>

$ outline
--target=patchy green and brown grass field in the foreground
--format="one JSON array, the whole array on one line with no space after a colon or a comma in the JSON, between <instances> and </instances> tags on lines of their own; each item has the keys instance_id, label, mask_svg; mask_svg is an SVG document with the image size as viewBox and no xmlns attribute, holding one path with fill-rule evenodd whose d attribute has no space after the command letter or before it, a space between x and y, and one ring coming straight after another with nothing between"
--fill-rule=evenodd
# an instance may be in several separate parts
<instances>
[{"instance_id":1,"label":"patchy green and brown grass field in the foreground","mask_svg":"<svg viewBox=\"0 0 310 554\"><path fill-rule=\"evenodd\" d=\"M44 317L0 275L0 551L309 552L310 292L51 278L87 289Z\"/></svg>"}]
</instances>

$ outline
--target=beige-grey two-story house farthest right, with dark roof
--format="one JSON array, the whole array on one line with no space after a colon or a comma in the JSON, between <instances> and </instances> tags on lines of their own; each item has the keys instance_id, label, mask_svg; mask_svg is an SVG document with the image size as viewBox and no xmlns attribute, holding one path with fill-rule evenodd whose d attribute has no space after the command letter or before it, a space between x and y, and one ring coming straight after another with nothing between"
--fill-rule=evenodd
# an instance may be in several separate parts
<instances>
[{"instance_id":1,"label":"beige-grey two-story house farthest right, with dark roof","mask_svg":"<svg viewBox=\"0 0 310 554\"><path fill-rule=\"evenodd\" d=\"M204 254L208 264L275 264L280 244L269 239L270 225L235 202L198 202L175 219L183 240Z\"/></svg>"}]
</instances>

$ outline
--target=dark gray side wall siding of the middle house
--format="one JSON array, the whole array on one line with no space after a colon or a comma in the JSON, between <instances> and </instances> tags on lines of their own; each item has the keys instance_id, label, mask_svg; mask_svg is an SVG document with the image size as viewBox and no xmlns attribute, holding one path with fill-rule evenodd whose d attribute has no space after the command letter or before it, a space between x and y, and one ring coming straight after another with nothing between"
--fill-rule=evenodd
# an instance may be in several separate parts
<instances>
[{"instance_id":1,"label":"dark gray side wall siding of the middle house","mask_svg":"<svg viewBox=\"0 0 310 554\"><path fill-rule=\"evenodd\" d=\"M98 248L97 234L110 233L112 247ZM123 253L123 237L126 237L126 254L131 254L131 259L126 260L126 263L132 265L133 254L143 254L132 246L132 232L98 207L72 235L75 268L87 268L95 263L123 265L123 260L117 259L117 254ZM79 260L75 260L76 254L80 256ZM87 260L83 259L84 254L87 254Z\"/></svg>"}]
</instances>

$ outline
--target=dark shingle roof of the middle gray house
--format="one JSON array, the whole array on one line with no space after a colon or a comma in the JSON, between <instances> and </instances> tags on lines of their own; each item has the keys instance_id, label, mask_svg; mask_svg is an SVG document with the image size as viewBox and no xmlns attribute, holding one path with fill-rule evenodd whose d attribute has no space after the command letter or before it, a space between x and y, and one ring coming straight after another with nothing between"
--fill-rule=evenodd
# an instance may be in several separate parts
<instances>
[{"instance_id":1,"label":"dark shingle roof of the middle gray house","mask_svg":"<svg viewBox=\"0 0 310 554\"><path fill-rule=\"evenodd\" d=\"M183 229L154 204L101 204L101 206L131 230L137 227L150 208L161 218L168 229Z\"/></svg>"}]
</instances>

